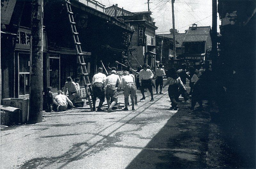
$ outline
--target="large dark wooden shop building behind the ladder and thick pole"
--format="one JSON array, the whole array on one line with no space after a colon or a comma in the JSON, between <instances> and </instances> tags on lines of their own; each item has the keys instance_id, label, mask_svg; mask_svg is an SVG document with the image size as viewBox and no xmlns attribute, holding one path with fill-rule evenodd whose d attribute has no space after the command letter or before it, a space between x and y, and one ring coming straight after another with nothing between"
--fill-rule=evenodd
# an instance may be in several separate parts
<instances>
[{"instance_id":1,"label":"large dark wooden shop building behind the ladder and thick pole","mask_svg":"<svg viewBox=\"0 0 256 169\"><path fill-rule=\"evenodd\" d=\"M92 78L102 63L115 66L129 47L134 30L104 13L94 0L71 0L84 60ZM83 2L83 3L82 3ZM76 77L77 58L71 23L64 1L44 2L44 92L60 90L68 76ZM10 6L12 5L12 6ZM23 10L24 9L24 10ZM31 1L13 1L1 7L1 100L29 98L31 56ZM11 18L6 16L11 15ZM4 17L3 17L4 16ZM17 40L16 40L17 39ZM83 86L82 81L80 86Z\"/></svg>"}]
</instances>

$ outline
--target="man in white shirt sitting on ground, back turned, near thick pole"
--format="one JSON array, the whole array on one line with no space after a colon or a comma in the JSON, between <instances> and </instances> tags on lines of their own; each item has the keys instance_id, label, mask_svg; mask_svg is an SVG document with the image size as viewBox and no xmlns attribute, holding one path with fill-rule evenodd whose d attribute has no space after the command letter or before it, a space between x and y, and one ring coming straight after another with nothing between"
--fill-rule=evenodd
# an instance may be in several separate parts
<instances>
[{"instance_id":1,"label":"man in white shirt sitting on ground, back turned, near thick pole","mask_svg":"<svg viewBox=\"0 0 256 169\"><path fill-rule=\"evenodd\" d=\"M57 111L65 111L68 108L68 104L74 107L73 103L68 99L68 96L62 95L61 90L58 90L58 95L55 96L53 104L57 107Z\"/></svg>"}]
</instances>

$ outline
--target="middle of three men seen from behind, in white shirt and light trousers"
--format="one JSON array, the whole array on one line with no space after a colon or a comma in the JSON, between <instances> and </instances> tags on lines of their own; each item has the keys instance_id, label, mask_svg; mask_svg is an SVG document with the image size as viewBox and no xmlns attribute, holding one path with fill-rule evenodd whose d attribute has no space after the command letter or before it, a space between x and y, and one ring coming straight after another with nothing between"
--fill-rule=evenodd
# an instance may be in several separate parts
<instances>
[{"instance_id":1,"label":"middle of three men seen from behind, in white shirt and light trousers","mask_svg":"<svg viewBox=\"0 0 256 169\"><path fill-rule=\"evenodd\" d=\"M111 75L107 77L106 83L107 83L106 98L108 103L108 112L114 112L112 108L118 102L118 93L116 89L118 85L121 85L120 78L116 74L115 70L111 71Z\"/></svg>"}]
</instances>

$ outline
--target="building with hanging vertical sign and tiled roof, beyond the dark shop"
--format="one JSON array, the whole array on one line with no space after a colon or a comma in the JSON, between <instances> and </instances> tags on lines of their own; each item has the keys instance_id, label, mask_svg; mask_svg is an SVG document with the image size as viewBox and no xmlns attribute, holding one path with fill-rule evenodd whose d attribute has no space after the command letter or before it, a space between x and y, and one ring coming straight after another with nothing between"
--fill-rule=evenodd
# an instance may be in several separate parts
<instances>
[{"instance_id":1,"label":"building with hanging vertical sign and tiled roof, beyond the dark shop","mask_svg":"<svg viewBox=\"0 0 256 169\"><path fill-rule=\"evenodd\" d=\"M135 29L130 37L129 52L126 53L131 66L137 69L139 65L148 63L152 68L155 60L156 29L151 11L130 12L116 5L105 8L106 14L116 17L120 21ZM139 62L139 63L138 63Z\"/></svg>"}]
</instances>

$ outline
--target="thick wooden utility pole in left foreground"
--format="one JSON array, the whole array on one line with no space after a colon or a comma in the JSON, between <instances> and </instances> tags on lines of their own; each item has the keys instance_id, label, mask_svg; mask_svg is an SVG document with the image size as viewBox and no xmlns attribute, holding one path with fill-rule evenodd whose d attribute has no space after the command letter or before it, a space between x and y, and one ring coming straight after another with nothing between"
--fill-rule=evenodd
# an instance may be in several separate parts
<instances>
[{"instance_id":1,"label":"thick wooden utility pole in left foreground","mask_svg":"<svg viewBox=\"0 0 256 169\"><path fill-rule=\"evenodd\" d=\"M43 7L44 0L32 0L29 123L43 121Z\"/></svg>"}]
</instances>

